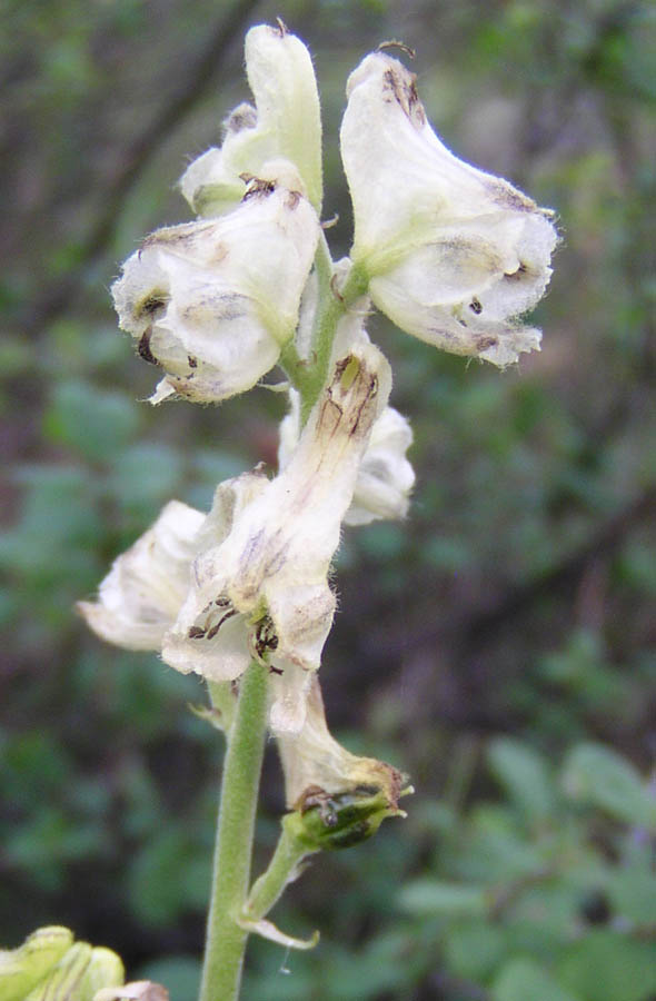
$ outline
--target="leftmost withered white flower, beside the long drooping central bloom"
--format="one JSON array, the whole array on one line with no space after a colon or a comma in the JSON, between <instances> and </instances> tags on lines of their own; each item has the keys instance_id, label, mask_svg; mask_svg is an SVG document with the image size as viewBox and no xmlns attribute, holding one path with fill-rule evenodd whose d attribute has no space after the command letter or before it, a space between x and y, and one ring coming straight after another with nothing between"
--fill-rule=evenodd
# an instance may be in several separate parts
<instances>
[{"instance_id":1,"label":"leftmost withered white flower, beside the long drooping central bloom","mask_svg":"<svg viewBox=\"0 0 656 1001\"><path fill-rule=\"evenodd\" d=\"M166 505L157 522L115 559L98 601L78 602L95 633L127 650L160 650L189 591L205 519L179 500Z\"/></svg>"}]
</instances>

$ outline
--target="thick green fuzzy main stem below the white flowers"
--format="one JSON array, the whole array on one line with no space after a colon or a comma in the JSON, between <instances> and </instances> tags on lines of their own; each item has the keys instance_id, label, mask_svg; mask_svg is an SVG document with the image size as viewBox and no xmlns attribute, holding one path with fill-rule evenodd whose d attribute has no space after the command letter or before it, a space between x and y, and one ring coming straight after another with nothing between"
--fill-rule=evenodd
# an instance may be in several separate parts
<instances>
[{"instance_id":1,"label":"thick green fuzzy main stem below the white flowers","mask_svg":"<svg viewBox=\"0 0 656 1001\"><path fill-rule=\"evenodd\" d=\"M237 923L250 881L257 796L267 723L267 668L241 677L223 781L199 1001L237 1001L248 932Z\"/></svg>"}]
</instances>

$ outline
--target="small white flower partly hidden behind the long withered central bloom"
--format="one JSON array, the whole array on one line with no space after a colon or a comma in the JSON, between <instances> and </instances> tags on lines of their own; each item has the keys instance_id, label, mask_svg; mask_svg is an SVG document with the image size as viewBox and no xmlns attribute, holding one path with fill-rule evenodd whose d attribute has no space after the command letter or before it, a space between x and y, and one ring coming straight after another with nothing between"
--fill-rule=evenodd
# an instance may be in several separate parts
<instances>
[{"instance_id":1,"label":"small white flower partly hidden behind the long withered central bloom","mask_svg":"<svg viewBox=\"0 0 656 1001\"><path fill-rule=\"evenodd\" d=\"M289 393L290 410L280 423L278 463L285 468L300 433L300 397ZM415 470L406 458L413 444L413 430L406 417L394 407L385 407L371 428L371 436L360 460L345 525L368 525L379 519L405 518Z\"/></svg>"}]
</instances>

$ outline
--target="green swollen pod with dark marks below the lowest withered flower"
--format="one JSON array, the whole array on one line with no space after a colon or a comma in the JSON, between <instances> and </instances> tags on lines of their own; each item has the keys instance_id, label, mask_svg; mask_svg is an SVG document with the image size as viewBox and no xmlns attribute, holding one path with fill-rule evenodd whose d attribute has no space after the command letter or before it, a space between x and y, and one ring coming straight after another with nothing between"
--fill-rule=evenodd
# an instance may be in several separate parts
<instances>
[{"instance_id":1,"label":"green swollen pod with dark marks below the lowest withered flower","mask_svg":"<svg viewBox=\"0 0 656 1001\"><path fill-rule=\"evenodd\" d=\"M406 813L379 786L359 785L331 794L309 786L284 824L308 851L335 851L367 841L388 816Z\"/></svg>"}]
</instances>

